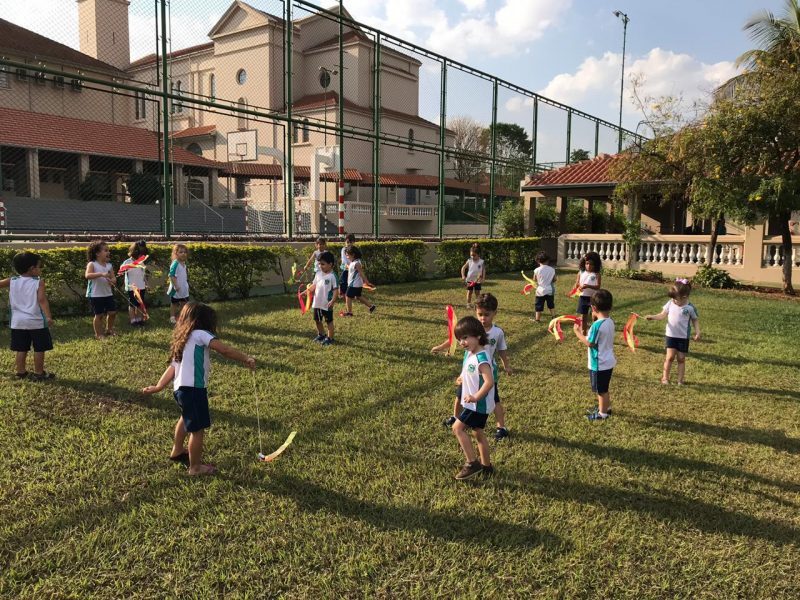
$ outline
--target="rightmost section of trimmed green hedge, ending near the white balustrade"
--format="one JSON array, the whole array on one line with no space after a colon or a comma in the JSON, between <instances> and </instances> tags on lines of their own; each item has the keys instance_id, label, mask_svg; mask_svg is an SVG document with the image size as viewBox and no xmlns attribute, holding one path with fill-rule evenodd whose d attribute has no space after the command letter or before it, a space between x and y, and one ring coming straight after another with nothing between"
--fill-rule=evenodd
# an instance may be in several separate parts
<instances>
[{"instance_id":1,"label":"rightmost section of trimmed green hedge, ending near the white balustrade","mask_svg":"<svg viewBox=\"0 0 800 600\"><path fill-rule=\"evenodd\" d=\"M539 238L448 240L439 244L436 264L445 277L458 277L461 267L469 258L469 249L477 242L481 258L486 261L489 273L505 273L537 267L536 255L541 249Z\"/></svg>"}]
</instances>

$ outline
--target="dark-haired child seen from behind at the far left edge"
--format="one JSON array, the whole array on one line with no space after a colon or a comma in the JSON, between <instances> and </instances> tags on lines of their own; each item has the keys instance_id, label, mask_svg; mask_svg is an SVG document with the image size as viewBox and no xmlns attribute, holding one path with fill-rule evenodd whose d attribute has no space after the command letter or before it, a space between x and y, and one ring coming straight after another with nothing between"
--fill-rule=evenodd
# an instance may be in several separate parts
<instances>
[{"instance_id":1,"label":"dark-haired child seen from behind at the far left edge","mask_svg":"<svg viewBox=\"0 0 800 600\"><path fill-rule=\"evenodd\" d=\"M8 288L11 309L11 350L16 352L17 379L28 377L33 381L53 379L55 375L44 370L44 353L53 349L49 326L53 324L50 304L42 274L42 261L38 254L20 252L13 259L19 276L0 280L0 288ZM33 373L27 370L28 352L33 346Z\"/></svg>"}]
</instances>

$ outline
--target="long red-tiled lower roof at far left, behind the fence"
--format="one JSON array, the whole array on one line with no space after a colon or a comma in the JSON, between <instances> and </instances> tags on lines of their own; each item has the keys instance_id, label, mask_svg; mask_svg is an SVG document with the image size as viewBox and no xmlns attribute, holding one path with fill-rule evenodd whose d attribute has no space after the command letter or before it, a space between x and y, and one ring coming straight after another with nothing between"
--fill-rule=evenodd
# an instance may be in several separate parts
<instances>
[{"instance_id":1,"label":"long red-tiled lower roof at far left, behind the fence","mask_svg":"<svg viewBox=\"0 0 800 600\"><path fill-rule=\"evenodd\" d=\"M158 135L147 129L4 107L0 107L0 144L148 161L159 160L161 145ZM179 147L173 156L182 165L222 166Z\"/></svg>"}]
</instances>

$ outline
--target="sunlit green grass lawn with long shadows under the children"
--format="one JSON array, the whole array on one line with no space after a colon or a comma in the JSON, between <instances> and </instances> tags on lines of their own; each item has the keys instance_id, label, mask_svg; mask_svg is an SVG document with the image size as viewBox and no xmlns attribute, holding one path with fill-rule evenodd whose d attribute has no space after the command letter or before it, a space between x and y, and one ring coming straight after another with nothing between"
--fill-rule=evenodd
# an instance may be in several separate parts
<instances>
[{"instance_id":1,"label":"sunlit green grass lawn with long shadows under the children","mask_svg":"<svg viewBox=\"0 0 800 600\"><path fill-rule=\"evenodd\" d=\"M559 283L557 311L573 312ZM214 425L192 479L167 460L177 409L143 397L167 357L167 313L90 339L60 320L52 383L15 381L0 354L0 596L6 598L797 598L800 595L800 303L695 291L704 339L689 385L661 386L664 285L607 278L615 297L614 416L589 423L586 352L529 321L517 275L493 278L515 373L501 375L511 437L496 475L459 483L440 421L460 359L432 356L453 280L382 286L379 307L311 341L290 297L216 305ZM459 309L458 306L461 306ZM8 330L0 346L8 347ZM674 373L673 373L674 378ZM490 417L493 432L494 420Z\"/></svg>"}]
</instances>

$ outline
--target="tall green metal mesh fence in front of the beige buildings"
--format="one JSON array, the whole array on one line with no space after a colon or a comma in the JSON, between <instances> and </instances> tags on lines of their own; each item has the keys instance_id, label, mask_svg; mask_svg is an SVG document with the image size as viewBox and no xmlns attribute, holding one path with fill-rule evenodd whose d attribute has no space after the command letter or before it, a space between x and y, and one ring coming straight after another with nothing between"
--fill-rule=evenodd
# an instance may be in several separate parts
<instances>
[{"instance_id":1,"label":"tall green metal mesh fence in front of the beige buildings","mask_svg":"<svg viewBox=\"0 0 800 600\"><path fill-rule=\"evenodd\" d=\"M0 53L7 236L491 236L521 180L636 137L346 5L54 2Z\"/></svg>"}]
</instances>

